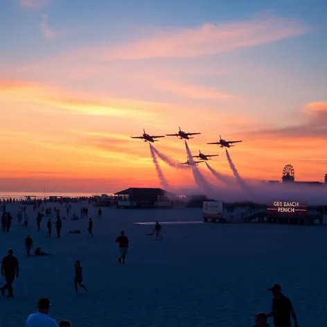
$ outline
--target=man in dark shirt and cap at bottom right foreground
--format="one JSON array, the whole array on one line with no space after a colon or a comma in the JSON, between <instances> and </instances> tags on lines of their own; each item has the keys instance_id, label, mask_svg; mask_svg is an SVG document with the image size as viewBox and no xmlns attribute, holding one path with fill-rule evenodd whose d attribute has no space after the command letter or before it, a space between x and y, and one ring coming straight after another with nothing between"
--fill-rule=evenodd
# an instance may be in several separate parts
<instances>
[{"instance_id":1,"label":"man in dark shirt and cap at bottom right foreground","mask_svg":"<svg viewBox=\"0 0 327 327\"><path fill-rule=\"evenodd\" d=\"M275 327L291 327L291 315L294 320L294 327L299 327L297 324L297 315L293 309L292 303L288 297L281 292L281 285L274 284L269 291L272 292L272 311L267 314L267 317L274 317Z\"/></svg>"}]
</instances>

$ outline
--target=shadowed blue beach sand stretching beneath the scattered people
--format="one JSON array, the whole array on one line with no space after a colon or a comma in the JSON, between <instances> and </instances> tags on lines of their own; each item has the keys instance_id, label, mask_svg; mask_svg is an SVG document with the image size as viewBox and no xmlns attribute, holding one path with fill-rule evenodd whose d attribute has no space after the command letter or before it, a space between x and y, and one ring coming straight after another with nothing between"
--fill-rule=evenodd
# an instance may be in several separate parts
<instances>
[{"instance_id":1,"label":"shadowed blue beach sand stretching beneath the scattered people","mask_svg":"<svg viewBox=\"0 0 327 327\"><path fill-rule=\"evenodd\" d=\"M202 209L103 208L99 219L98 208L85 205L94 238L86 218L63 220L62 238L55 238L55 228L53 238L46 238L47 218L38 232L32 206L27 206L28 229L17 227L19 206L7 205L14 219L10 233L0 234L1 256L12 247L20 276L13 285L15 298L0 297L0 326L24 326L40 297L53 303L51 317L78 327L252 326L254 312L269 311L267 288L276 282L292 299L300 326L324 326L327 320L324 227L163 224L163 240L157 241L145 236L151 226L133 222L197 221ZM80 208L73 204L70 215L80 215ZM66 215L63 206L61 215ZM74 229L82 233L67 233ZM127 265L117 260L121 230L130 239ZM51 256L28 258L27 233ZM74 292L75 260L82 263L87 294Z\"/></svg>"}]
</instances>

